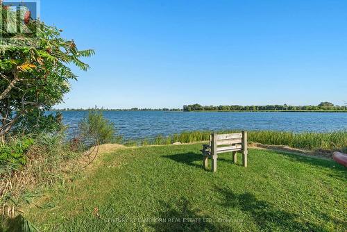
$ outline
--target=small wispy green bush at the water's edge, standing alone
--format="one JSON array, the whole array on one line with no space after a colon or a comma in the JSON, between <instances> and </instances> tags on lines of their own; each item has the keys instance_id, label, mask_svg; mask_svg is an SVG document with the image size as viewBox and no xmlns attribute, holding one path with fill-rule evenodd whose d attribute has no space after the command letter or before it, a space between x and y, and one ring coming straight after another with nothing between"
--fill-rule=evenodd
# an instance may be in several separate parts
<instances>
[{"instance_id":1,"label":"small wispy green bush at the water's edge, standing alone","mask_svg":"<svg viewBox=\"0 0 347 232\"><path fill-rule=\"evenodd\" d=\"M89 140L90 143L98 144L115 141L115 125L103 117L103 113L97 110L90 110L88 114L78 124L81 137Z\"/></svg>"}]
</instances>

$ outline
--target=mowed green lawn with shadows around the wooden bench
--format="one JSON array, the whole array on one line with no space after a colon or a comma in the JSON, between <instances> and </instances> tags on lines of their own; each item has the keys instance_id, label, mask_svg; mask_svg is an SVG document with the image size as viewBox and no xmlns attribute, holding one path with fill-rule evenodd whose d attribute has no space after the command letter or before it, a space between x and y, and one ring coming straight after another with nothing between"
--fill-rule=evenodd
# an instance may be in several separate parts
<instances>
[{"instance_id":1,"label":"mowed green lawn with shadows around the wooden bench","mask_svg":"<svg viewBox=\"0 0 347 232\"><path fill-rule=\"evenodd\" d=\"M331 160L250 149L248 167L201 144L124 148L24 216L42 231L346 231L347 171Z\"/></svg>"}]
</instances>

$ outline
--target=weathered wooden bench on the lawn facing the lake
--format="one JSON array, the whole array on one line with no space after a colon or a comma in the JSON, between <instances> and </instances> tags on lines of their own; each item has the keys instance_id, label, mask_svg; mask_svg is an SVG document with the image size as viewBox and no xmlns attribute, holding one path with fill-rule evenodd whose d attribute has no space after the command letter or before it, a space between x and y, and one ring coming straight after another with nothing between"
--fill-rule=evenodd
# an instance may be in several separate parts
<instances>
[{"instance_id":1,"label":"weathered wooden bench on the lawn facing the lake","mask_svg":"<svg viewBox=\"0 0 347 232\"><path fill-rule=\"evenodd\" d=\"M218 154L232 152L232 162L237 163L237 151L242 151L242 164L247 167L247 131L210 135L210 144L203 144L203 167L208 168L208 158L212 158L212 172L217 172Z\"/></svg>"}]
</instances>

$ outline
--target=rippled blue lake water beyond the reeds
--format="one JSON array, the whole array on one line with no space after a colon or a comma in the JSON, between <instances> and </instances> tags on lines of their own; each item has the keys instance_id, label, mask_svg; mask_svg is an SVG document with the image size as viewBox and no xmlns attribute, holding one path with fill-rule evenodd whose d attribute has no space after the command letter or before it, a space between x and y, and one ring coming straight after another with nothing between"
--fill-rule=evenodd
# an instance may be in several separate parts
<instances>
[{"instance_id":1,"label":"rippled blue lake water beyond the reeds","mask_svg":"<svg viewBox=\"0 0 347 232\"><path fill-rule=\"evenodd\" d=\"M70 135L76 133L78 121L85 114L87 111L62 112L64 123L70 126ZM115 123L117 133L126 140L198 130L347 130L347 113L104 111L103 115Z\"/></svg>"}]
</instances>

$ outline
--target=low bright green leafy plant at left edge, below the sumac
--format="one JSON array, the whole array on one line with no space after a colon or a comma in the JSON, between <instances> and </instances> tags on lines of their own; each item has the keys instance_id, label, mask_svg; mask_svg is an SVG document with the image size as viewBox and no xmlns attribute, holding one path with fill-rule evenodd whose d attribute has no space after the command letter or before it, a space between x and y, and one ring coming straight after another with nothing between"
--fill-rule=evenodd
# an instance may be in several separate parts
<instances>
[{"instance_id":1,"label":"low bright green leafy plant at left edge, below the sumac","mask_svg":"<svg viewBox=\"0 0 347 232\"><path fill-rule=\"evenodd\" d=\"M0 165L25 165L26 151L34 144L32 138L15 139L0 146Z\"/></svg>"}]
</instances>

